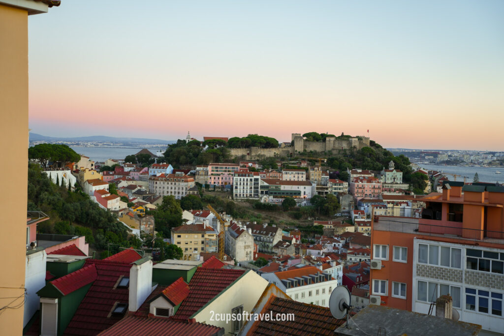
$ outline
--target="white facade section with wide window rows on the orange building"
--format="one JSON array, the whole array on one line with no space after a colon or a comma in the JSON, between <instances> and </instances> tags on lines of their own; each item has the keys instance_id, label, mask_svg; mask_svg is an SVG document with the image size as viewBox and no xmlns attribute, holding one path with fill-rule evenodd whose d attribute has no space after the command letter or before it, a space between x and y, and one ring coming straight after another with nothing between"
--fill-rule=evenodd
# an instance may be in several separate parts
<instances>
[{"instance_id":1,"label":"white facade section with wide window rows on the orange building","mask_svg":"<svg viewBox=\"0 0 504 336\"><path fill-rule=\"evenodd\" d=\"M450 294L461 321L503 332L503 265L504 248L415 238L412 311L427 313L431 301Z\"/></svg>"}]
</instances>

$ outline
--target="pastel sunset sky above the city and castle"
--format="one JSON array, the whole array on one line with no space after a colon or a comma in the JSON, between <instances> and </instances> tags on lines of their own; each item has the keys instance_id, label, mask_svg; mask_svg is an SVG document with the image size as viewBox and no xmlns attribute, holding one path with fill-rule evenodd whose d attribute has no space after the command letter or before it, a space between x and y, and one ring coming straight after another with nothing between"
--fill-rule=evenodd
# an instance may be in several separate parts
<instances>
[{"instance_id":1,"label":"pastel sunset sky above the city and castle","mask_svg":"<svg viewBox=\"0 0 504 336\"><path fill-rule=\"evenodd\" d=\"M64 0L29 18L30 128L309 131L504 151L504 1Z\"/></svg>"}]
</instances>

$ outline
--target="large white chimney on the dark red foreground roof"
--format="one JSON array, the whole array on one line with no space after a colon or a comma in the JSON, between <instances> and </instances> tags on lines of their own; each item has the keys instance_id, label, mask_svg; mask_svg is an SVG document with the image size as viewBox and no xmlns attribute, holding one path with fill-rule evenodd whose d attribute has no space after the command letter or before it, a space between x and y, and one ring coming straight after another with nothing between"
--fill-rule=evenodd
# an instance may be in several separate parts
<instances>
[{"instance_id":1,"label":"large white chimney on the dark red foreground roof","mask_svg":"<svg viewBox=\"0 0 504 336\"><path fill-rule=\"evenodd\" d=\"M152 257L135 261L130 269L130 311L137 311L152 292Z\"/></svg>"}]
</instances>

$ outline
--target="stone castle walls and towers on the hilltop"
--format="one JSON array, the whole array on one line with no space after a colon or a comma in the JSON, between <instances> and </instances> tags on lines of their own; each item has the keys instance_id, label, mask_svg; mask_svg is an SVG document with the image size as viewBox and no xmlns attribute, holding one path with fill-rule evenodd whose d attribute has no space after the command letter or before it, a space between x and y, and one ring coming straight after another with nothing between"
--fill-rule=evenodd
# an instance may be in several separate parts
<instances>
[{"instance_id":1,"label":"stone castle walls and towers on the hilltop","mask_svg":"<svg viewBox=\"0 0 504 336\"><path fill-rule=\"evenodd\" d=\"M245 156L247 159L255 159L261 157L293 157L303 152L331 152L337 154L342 150L356 149L369 146L368 137L328 137L326 141L307 141L301 133L292 133L291 145L282 145L277 148L230 148L232 156Z\"/></svg>"}]
</instances>

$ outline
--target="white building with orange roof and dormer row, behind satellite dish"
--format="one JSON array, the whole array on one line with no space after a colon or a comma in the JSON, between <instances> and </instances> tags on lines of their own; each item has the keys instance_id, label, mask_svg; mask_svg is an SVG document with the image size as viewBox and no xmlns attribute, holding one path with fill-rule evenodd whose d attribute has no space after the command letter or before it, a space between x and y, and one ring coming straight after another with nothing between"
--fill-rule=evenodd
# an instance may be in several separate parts
<instances>
[{"instance_id":1,"label":"white building with orange roof and dormer row, behind satellite dish","mask_svg":"<svg viewBox=\"0 0 504 336\"><path fill-rule=\"evenodd\" d=\"M265 273L261 277L275 284L295 301L322 307L329 307L329 297L332 291L338 287L338 280L314 266Z\"/></svg>"}]
</instances>

